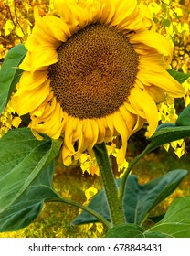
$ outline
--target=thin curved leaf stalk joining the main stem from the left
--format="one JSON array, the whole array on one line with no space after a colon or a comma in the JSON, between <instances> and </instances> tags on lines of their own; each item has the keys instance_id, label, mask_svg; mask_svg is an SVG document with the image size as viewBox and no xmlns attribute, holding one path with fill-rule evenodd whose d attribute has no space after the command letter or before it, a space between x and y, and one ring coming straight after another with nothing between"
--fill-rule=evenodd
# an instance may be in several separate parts
<instances>
[{"instance_id":1,"label":"thin curved leaf stalk joining the main stem from the left","mask_svg":"<svg viewBox=\"0 0 190 256\"><path fill-rule=\"evenodd\" d=\"M58 196L59 197L59 196ZM59 198L53 198L53 199L50 199L48 200L48 202L62 202L62 203L65 203L65 204L69 204L71 206L74 206L74 207L77 207L77 208L81 208L87 212L89 212L91 215L93 215L95 218L99 219L100 222L102 222L108 229L111 229L111 224L109 221L107 221L106 219L103 219L100 214L96 211L94 211L93 209L91 208L88 208L88 207L85 207L81 204L79 204L78 202L76 201L72 201L68 198L63 198L63 197L59 197Z\"/></svg>"}]
</instances>

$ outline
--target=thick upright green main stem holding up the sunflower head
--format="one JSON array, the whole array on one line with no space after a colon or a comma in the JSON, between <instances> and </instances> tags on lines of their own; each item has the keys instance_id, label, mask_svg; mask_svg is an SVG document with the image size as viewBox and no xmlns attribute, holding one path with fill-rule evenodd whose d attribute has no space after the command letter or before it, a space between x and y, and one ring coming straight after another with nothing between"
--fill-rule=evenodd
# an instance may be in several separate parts
<instances>
[{"instance_id":1,"label":"thick upright green main stem holding up the sunflower head","mask_svg":"<svg viewBox=\"0 0 190 256\"><path fill-rule=\"evenodd\" d=\"M125 223L124 210L118 197L118 188L111 169L111 162L107 153L106 144L95 144L93 150L100 168L100 174L110 208L112 225L115 226Z\"/></svg>"}]
</instances>

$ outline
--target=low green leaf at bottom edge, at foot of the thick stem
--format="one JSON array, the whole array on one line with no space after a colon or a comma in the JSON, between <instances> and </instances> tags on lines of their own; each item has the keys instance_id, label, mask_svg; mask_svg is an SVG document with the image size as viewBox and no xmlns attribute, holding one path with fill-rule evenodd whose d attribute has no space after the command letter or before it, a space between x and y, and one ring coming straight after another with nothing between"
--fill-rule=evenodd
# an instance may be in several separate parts
<instances>
[{"instance_id":1,"label":"low green leaf at bottom edge, at foot of the thick stem","mask_svg":"<svg viewBox=\"0 0 190 256\"><path fill-rule=\"evenodd\" d=\"M140 226L135 224L123 223L117 226L114 226L110 229L106 238L168 238L169 235L164 235L160 232L148 232L142 229ZM119 251L119 247L115 248Z\"/></svg>"}]
</instances>

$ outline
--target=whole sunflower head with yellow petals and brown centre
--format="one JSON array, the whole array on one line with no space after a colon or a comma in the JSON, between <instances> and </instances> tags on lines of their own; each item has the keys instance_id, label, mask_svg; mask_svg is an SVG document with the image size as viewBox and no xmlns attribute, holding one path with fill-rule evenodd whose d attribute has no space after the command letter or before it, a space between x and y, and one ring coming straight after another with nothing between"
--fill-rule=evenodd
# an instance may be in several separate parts
<instances>
[{"instance_id":1,"label":"whole sunflower head with yellow petals and brown centre","mask_svg":"<svg viewBox=\"0 0 190 256\"><path fill-rule=\"evenodd\" d=\"M30 114L33 133L63 138L64 165L121 136L118 164L132 133L158 124L156 104L183 87L166 71L173 48L135 0L55 0L26 41L12 104Z\"/></svg>"}]
</instances>

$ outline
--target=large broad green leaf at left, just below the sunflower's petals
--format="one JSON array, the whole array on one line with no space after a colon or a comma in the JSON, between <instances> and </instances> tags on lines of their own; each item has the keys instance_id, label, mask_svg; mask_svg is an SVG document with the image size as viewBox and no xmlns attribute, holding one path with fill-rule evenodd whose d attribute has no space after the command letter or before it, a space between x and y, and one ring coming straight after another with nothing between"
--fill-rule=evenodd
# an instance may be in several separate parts
<instances>
[{"instance_id":1,"label":"large broad green leaf at left, just below the sunflower's petals","mask_svg":"<svg viewBox=\"0 0 190 256\"><path fill-rule=\"evenodd\" d=\"M0 213L15 204L58 155L61 140L38 141L28 128L11 130L0 139Z\"/></svg>"}]
</instances>

